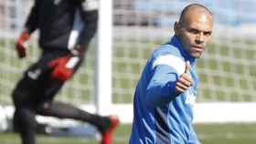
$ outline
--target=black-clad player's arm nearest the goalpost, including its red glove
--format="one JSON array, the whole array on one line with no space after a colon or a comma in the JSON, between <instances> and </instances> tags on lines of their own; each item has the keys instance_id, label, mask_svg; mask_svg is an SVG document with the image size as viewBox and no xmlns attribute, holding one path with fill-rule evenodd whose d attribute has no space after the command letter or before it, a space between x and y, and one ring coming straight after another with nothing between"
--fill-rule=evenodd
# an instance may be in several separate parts
<instances>
[{"instance_id":1,"label":"black-clad player's arm nearest the goalpost, including its red glove","mask_svg":"<svg viewBox=\"0 0 256 144\"><path fill-rule=\"evenodd\" d=\"M53 68L51 77L63 82L72 77L75 67L82 61L98 25L97 0L74 0L72 2L80 5L80 16L84 23L84 26L82 26L83 29L80 32L77 43L74 47L71 47L71 54L65 57L59 57L49 63L49 67Z\"/></svg>"}]
</instances>

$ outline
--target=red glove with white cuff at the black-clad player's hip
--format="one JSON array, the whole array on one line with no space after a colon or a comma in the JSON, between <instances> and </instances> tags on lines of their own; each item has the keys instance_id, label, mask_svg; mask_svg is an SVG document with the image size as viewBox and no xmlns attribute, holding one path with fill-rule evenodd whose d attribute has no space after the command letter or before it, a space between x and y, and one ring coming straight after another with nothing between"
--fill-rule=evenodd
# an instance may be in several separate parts
<instances>
[{"instance_id":1,"label":"red glove with white cuff at the black-clad player's hip","mask_svg":"<svg viewBox=\"0 0 256 144\"><path fill-rule=\"evenodd\" d=\"M49 67L53 68L51 77L60 81L66 81L72 77L73 68L77 65L79 57L60 57L49 63Z\"/></svg>"}]
</instances>

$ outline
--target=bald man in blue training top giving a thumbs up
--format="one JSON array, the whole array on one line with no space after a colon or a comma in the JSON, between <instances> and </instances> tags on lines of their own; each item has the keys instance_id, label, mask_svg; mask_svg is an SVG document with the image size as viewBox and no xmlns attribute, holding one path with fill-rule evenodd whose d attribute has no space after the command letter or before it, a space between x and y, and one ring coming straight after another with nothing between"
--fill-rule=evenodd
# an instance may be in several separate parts
<instances>
[{"instance_id":1,"label":"bald man in blue training top giving a thumbs up","mask_svg":"<svg viewBox=\"0 0 256 144\"><path fill-rule=\"evenodd\" d=\"M130 144L199 144L192 126L197 94L196 59L205 50L213 15L192 4L175 24L175 36L146 63L133 99Z\"/></svg>"}]
</instances>

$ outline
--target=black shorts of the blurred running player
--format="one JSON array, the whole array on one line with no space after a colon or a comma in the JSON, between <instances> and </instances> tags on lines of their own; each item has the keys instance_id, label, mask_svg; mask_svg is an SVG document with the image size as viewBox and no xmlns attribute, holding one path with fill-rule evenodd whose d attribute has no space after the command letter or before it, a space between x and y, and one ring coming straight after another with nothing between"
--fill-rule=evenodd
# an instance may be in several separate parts
<instances>
[{"instance_id":1,"label":"black shorts of the blurred running player","mask_svg":"<svg viewBox=\"0 0 256 144\"><path fill-rule=\"evenodd\" d=\"M48 64L56 58L67 55L68 52L45 51L36 63L27 68L13 91L12 97L16 108L37 108L38 105L53 100L64 82L50 77L52 69ZM81 62L82 59L74 67L74 71L77 71Z\"/></svg>"}]
</instances>

